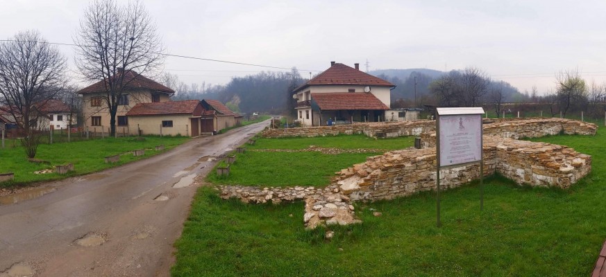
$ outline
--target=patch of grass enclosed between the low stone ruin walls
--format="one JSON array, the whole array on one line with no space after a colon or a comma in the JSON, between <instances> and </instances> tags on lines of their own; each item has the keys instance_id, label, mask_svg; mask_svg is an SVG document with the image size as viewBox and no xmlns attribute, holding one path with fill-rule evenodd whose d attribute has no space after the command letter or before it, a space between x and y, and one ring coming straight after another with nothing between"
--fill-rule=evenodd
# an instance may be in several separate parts
<instances>
[{"instance_id":1,"label":"patch of grass enclosed between the low stone ruin walls","mask_svg":"<svg viewBox=\"0 0 606 277\"><path fill-rule=\"evenodd\" d=\"M217 172L208 175L214 184L246 186L326 186L336 171L354 163L366 161L374 153L322 154L320 152L258 152L254 150L296 150L310 145L341 149L387 149L407 148L414 138L369 139L366 136L333 136L319 138L258 139L248 145L248 151L237 154L237 161L230 166L229 177L217 177ZM251 151L253 150L253 151ZM301 174L305 172L305 174Z\"/></svg>"}]
</instances>

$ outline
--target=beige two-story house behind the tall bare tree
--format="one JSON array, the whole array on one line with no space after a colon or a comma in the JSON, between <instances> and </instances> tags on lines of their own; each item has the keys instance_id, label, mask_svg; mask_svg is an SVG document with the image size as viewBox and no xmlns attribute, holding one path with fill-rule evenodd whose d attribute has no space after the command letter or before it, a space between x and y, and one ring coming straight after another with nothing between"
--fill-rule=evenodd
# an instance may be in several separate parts
<instances>
[{"instance_id":1,"label":"beige two-story house behind the tall bare tree","mask_svg":"<svg viewBox=\"0 0 606 277\"><path fill-rule=\"evenodd\" d=\"M126 83L125 91L117 100L116 127L119 134L132 133L132 130L128 129L126 113L137 103L167 102L170 100L170 96L175 93L174 90L165 87L163 84L132 70L119 71L117 74L124 74L124 82ZM113 76L112 78L119 78L119 76ZM84 126L90 132L109 132L110 111L106 102L108 98L106 83L101 80L81 89L78 94L83 96Z\"/></svg>"}]
</instances>

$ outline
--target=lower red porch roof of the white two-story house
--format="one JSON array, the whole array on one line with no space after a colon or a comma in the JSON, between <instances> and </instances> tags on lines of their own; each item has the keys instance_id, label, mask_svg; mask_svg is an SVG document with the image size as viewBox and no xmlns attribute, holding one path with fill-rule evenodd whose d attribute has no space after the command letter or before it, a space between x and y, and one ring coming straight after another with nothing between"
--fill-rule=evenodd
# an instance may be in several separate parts
<instances>
[{"instance_id":1,"label":"lower red porch roof of the white two-story house","mask_svg":"<svg viewBox=\"0 0 606 277\"><path fill-rule=\"evenodd\" d=\"M389 109L372 93L312 93L320 109Z\"/></svg>"}]
</instances>

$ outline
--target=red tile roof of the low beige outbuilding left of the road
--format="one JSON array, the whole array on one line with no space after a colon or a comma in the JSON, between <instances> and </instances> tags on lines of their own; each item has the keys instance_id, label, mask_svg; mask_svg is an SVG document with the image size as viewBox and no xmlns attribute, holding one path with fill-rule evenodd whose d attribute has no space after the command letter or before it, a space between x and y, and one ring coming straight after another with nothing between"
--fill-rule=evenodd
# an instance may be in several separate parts
<instances>
[{"instance_id":1,"label":"red tile roof of the low beige outbuilding left of the road","mask_svg":"<svg viewBox=\"0 0 606 277\"><path fill-rule=\"evenodd\" d=\"M155 116L162 114L194 114L196 107L200 105L199 100L183 100L155 103L137 103L127 116Z\"/></svg>"}]
</instances>

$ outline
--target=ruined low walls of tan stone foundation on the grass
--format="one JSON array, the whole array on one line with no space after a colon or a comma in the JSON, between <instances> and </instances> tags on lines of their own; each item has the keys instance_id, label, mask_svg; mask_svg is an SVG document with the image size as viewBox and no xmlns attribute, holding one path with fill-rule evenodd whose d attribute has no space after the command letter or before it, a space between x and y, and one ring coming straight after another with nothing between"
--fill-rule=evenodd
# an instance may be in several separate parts
<instances>
[{"instance_id":1,"label":"ruined low walls of tan stone foundation on the grass","mask_svg":"<svg viewBox=\"0 0 606 277\"><path fill-rule=\"evenodd\" d=\"M562 118L514 118L484 120L484 175L500 173L517 184L568 188L591 171L591 157L566 146L518 141L525 137L554 134L596 134L597 126ZM407 148L368 157L364 163L336 172L326 188L257 188L219 186L221 197L236 197L247 203L274 204L305 201L303 222L308 228L321 224L350 224L355 219L352 201L374 201L405 197L436 188L435 121L400 123L355 123L352 125L266 129L262 136L334 136L366 134L376 138L421 136L423 149ZM278 150L276 150L278 151ZM310 147L298 151L337 150ZM440 172L444 189L455 188L480 177L480 166L460 166Z\"/></svg>"}]
</instances>

